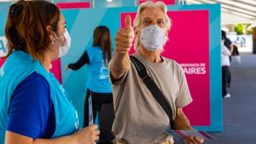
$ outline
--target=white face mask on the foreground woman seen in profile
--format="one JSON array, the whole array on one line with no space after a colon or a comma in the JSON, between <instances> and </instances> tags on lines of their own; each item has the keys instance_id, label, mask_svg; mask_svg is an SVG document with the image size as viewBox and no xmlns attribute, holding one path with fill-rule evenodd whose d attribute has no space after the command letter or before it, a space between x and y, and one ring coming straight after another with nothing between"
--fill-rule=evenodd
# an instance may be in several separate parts
<instances>
[{"instance_id":1,"label":"white face mask on the foreground woman seen in profile","mask_svg":"<svg viewBox=\"0 0 256 144\"><path fill-rule=\"evenodd\" d=\"M71 45L71 38L70 38L70 34L68 34L68 30L65 28L66 32L64 33L63 36L61 37L65 37L66 41L64 43L64 45L60 45L60 41L58 41L58 39L60 39L61 37L57 37L56 34L54 33L56 40L58 41L58 45L59 47L59 53L58 53L58 58L65 56L68 53L68 50L70 50L70 45ZM54 40L54 39L53 39Z\"/></svg>"}]
</instances>

